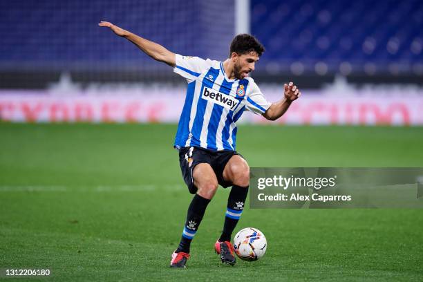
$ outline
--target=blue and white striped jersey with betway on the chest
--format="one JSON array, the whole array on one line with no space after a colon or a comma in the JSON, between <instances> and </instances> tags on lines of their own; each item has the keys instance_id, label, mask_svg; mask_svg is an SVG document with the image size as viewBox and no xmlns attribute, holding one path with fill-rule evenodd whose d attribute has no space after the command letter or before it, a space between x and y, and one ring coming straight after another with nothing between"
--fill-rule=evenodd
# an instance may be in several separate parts
<instances>
[{"instance_id":1,"label":"blue and white striped jersey with betway on the chest","mask_svg":"<svg viewBox=\"0 0 423 282\"><path fill-rule=\"evenodd\" d=\"M176 148L235 150L236 121L243 112L261 115L270 107L252 78L228 79L223 62L176 55L173 71L188 82Z\"/></svg>"}]
</instances>

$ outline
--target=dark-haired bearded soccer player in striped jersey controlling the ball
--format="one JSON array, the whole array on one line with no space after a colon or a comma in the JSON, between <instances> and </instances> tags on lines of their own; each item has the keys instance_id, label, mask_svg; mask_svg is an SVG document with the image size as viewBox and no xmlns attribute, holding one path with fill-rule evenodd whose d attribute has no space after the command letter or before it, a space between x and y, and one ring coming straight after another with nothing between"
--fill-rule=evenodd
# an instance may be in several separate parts
<instances>
[{"instance_id":1,"label":"dark-haired bearded soccer player in striped jersey controlling the ball","mask_svg":"<svg viewBox=\"0 0 423 282\"><path fill-rule=\"evenodd\" d=\"M284 85L283 97L270 103L249 73L264 52L252 35L237 35L224 62L181 56L163 46L127 30L101 21L159 62L187 79L187 95L180 115L174 147L179 150L182 176L189 192L195 194L188 207L187 220L178 248L173 252L171 267L185 267L189 247L218 185L232 186L227 200L223 232L214 245L223 263L234 265L232 232L243 213L250 182L250 167L235 151L236 121L245 110L276 120L301 95L292 82Z\"/></svg>"}]
</instances>

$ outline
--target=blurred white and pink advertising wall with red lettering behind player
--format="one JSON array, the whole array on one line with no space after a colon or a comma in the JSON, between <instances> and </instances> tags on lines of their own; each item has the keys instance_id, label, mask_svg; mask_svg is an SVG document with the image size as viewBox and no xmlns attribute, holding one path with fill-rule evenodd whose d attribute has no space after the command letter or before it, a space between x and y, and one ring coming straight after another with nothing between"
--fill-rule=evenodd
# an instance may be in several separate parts
<instances>
[{"instance_id":1,"label":"blurred white and pink advertising wall with red lettering behind player","mask_svg":"<svg viewBox=\"0 0 423 282\"><path fill-rule=\"evenodd\" d=\"M62 82L62 84L64 84ZM261 87L270 101L280 86ZM320 90L304 91L277 124L423 125L423 88L415 85L347 84L339 77ZM71 84L48 90L0 91L0 119L6 122L178 122L185 101L180 86ZM245 113L240 122L267 123Z\"/></svg>"}]
</instances>

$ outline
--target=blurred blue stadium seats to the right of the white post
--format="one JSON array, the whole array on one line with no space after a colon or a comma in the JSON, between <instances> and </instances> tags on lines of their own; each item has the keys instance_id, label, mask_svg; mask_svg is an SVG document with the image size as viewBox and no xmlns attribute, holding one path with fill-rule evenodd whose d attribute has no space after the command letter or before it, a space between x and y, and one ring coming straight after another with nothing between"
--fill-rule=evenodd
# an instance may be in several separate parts
<instances>
[{"instance_id":1,"label":"blurred blue stadium seats to the right of the white post","mask_svg":"<svg viewBox=\"0 0 423 282\"><path fill-rule=\"evenodd\" d=\"M265 64L315 71L321 63L346 75L366 64L381 73L423 64L423 1L252 0L251 11Z\"/></svg>"}]
</instances>

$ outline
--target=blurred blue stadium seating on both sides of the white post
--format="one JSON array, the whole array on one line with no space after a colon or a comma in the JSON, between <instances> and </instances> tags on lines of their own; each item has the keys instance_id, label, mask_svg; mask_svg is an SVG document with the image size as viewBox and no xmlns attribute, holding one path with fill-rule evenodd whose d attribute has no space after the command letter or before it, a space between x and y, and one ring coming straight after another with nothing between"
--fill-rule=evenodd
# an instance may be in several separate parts
<instances>
[{"instance_id":1,"label":"blurred blue stadium seating on both sides of the white post","mask_svg":"<svg viewBox=\"0 0 423 282\"><path fill-rule=\"evenodd\" d=\"M234 30L228 2L1 1L0 68L158 67L98 28L100 19L176 53L225 59ZM251 30L266 48L258 71L348 75L423 68L421 0L251 0Z\"/></svg>"}]
</instances>

